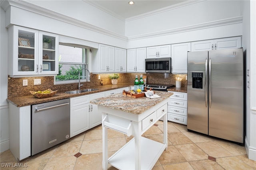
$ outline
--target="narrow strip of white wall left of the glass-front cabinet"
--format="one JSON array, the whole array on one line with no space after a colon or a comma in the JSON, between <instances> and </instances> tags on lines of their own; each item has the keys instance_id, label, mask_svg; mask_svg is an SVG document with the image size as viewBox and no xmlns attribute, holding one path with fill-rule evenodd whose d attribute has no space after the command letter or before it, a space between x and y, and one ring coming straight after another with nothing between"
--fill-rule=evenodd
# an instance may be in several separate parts
<instances>
[{"instance_id":1,"label":"narrow strip of white wall left of the glass-front cabinet","mask_svg":"<svg viewBox=\"0 0 256 170\"><path fill-rule=\"evenodd\" d=\"M9 149L9 110L8 103L6 101L8 92L8 75L7 65L8 65L8 53L7 53L7 42L8 42L8 31L4 26L5 12L1 8L1 18L0 18L0 152Z\"/></svg>"}]
</instances>

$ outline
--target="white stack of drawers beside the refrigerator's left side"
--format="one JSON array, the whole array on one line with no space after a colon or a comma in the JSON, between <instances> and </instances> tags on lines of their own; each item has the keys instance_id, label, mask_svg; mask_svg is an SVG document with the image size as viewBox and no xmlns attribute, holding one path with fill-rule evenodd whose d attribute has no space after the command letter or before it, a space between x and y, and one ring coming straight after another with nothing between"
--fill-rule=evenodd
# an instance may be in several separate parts
<instances>
[{"instance_id":1,"label":"white stack of drawers beside the refrigerator's left side","mask_svg":"<svg viewBox=\"0 0 256 170\"><path fill-rule=\"evenodd\" d=\"M171 91L170 91L171 92ZM187 93L172 92L168 102L168 121L187 125Z\"/></svg>"}]
</instances>

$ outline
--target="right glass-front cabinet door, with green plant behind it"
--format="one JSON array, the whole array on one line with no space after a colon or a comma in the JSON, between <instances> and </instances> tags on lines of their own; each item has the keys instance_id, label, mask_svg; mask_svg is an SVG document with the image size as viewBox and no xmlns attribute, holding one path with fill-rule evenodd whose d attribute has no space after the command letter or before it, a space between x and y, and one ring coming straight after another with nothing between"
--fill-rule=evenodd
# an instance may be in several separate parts
<instances>
[{"instance_id":1,"label":"right glass-front cabinet door, with green plant behind it","mask_svg":"<svg viewBox=\"0 0 256 170\"><path fill-rule=\"evenodd\" d=\"M39 74L58 74L58 35L39 31Z\"/></svg>"}]
</instances>

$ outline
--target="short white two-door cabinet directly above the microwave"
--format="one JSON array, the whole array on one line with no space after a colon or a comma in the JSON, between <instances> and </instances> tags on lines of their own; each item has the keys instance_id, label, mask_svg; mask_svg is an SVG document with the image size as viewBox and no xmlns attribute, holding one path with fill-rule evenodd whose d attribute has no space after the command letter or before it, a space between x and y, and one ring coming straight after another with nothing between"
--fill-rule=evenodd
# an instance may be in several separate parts
<instances>
[{"instance_id":1,"label":"short white two-door cabinet directly above the microwave","mask_svg":"<svg viewBox=\"0 0 256 170\"><path fill-rule=\"evenodd\" d=\"M171 45L147 47L147 59L171 57Z\"/></svg>"}]
</instances>

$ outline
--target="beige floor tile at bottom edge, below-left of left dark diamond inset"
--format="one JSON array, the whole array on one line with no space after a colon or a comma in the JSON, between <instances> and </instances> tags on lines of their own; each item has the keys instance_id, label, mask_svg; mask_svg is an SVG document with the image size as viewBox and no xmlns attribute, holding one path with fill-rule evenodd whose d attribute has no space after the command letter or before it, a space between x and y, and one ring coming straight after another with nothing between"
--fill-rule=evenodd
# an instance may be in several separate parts
<instances>
[{"instance_id":1,"label":"beige floor tile at bottom edge, below-left of left dark diamond inset","mask_svg":"<svg viewBox=\"0 0 256 170\"><path fill-rule=\"evenodd\" d=\"M76 163L75 156L50 158L44 170L72 170Z\"/></svg>"}]
</instances>

